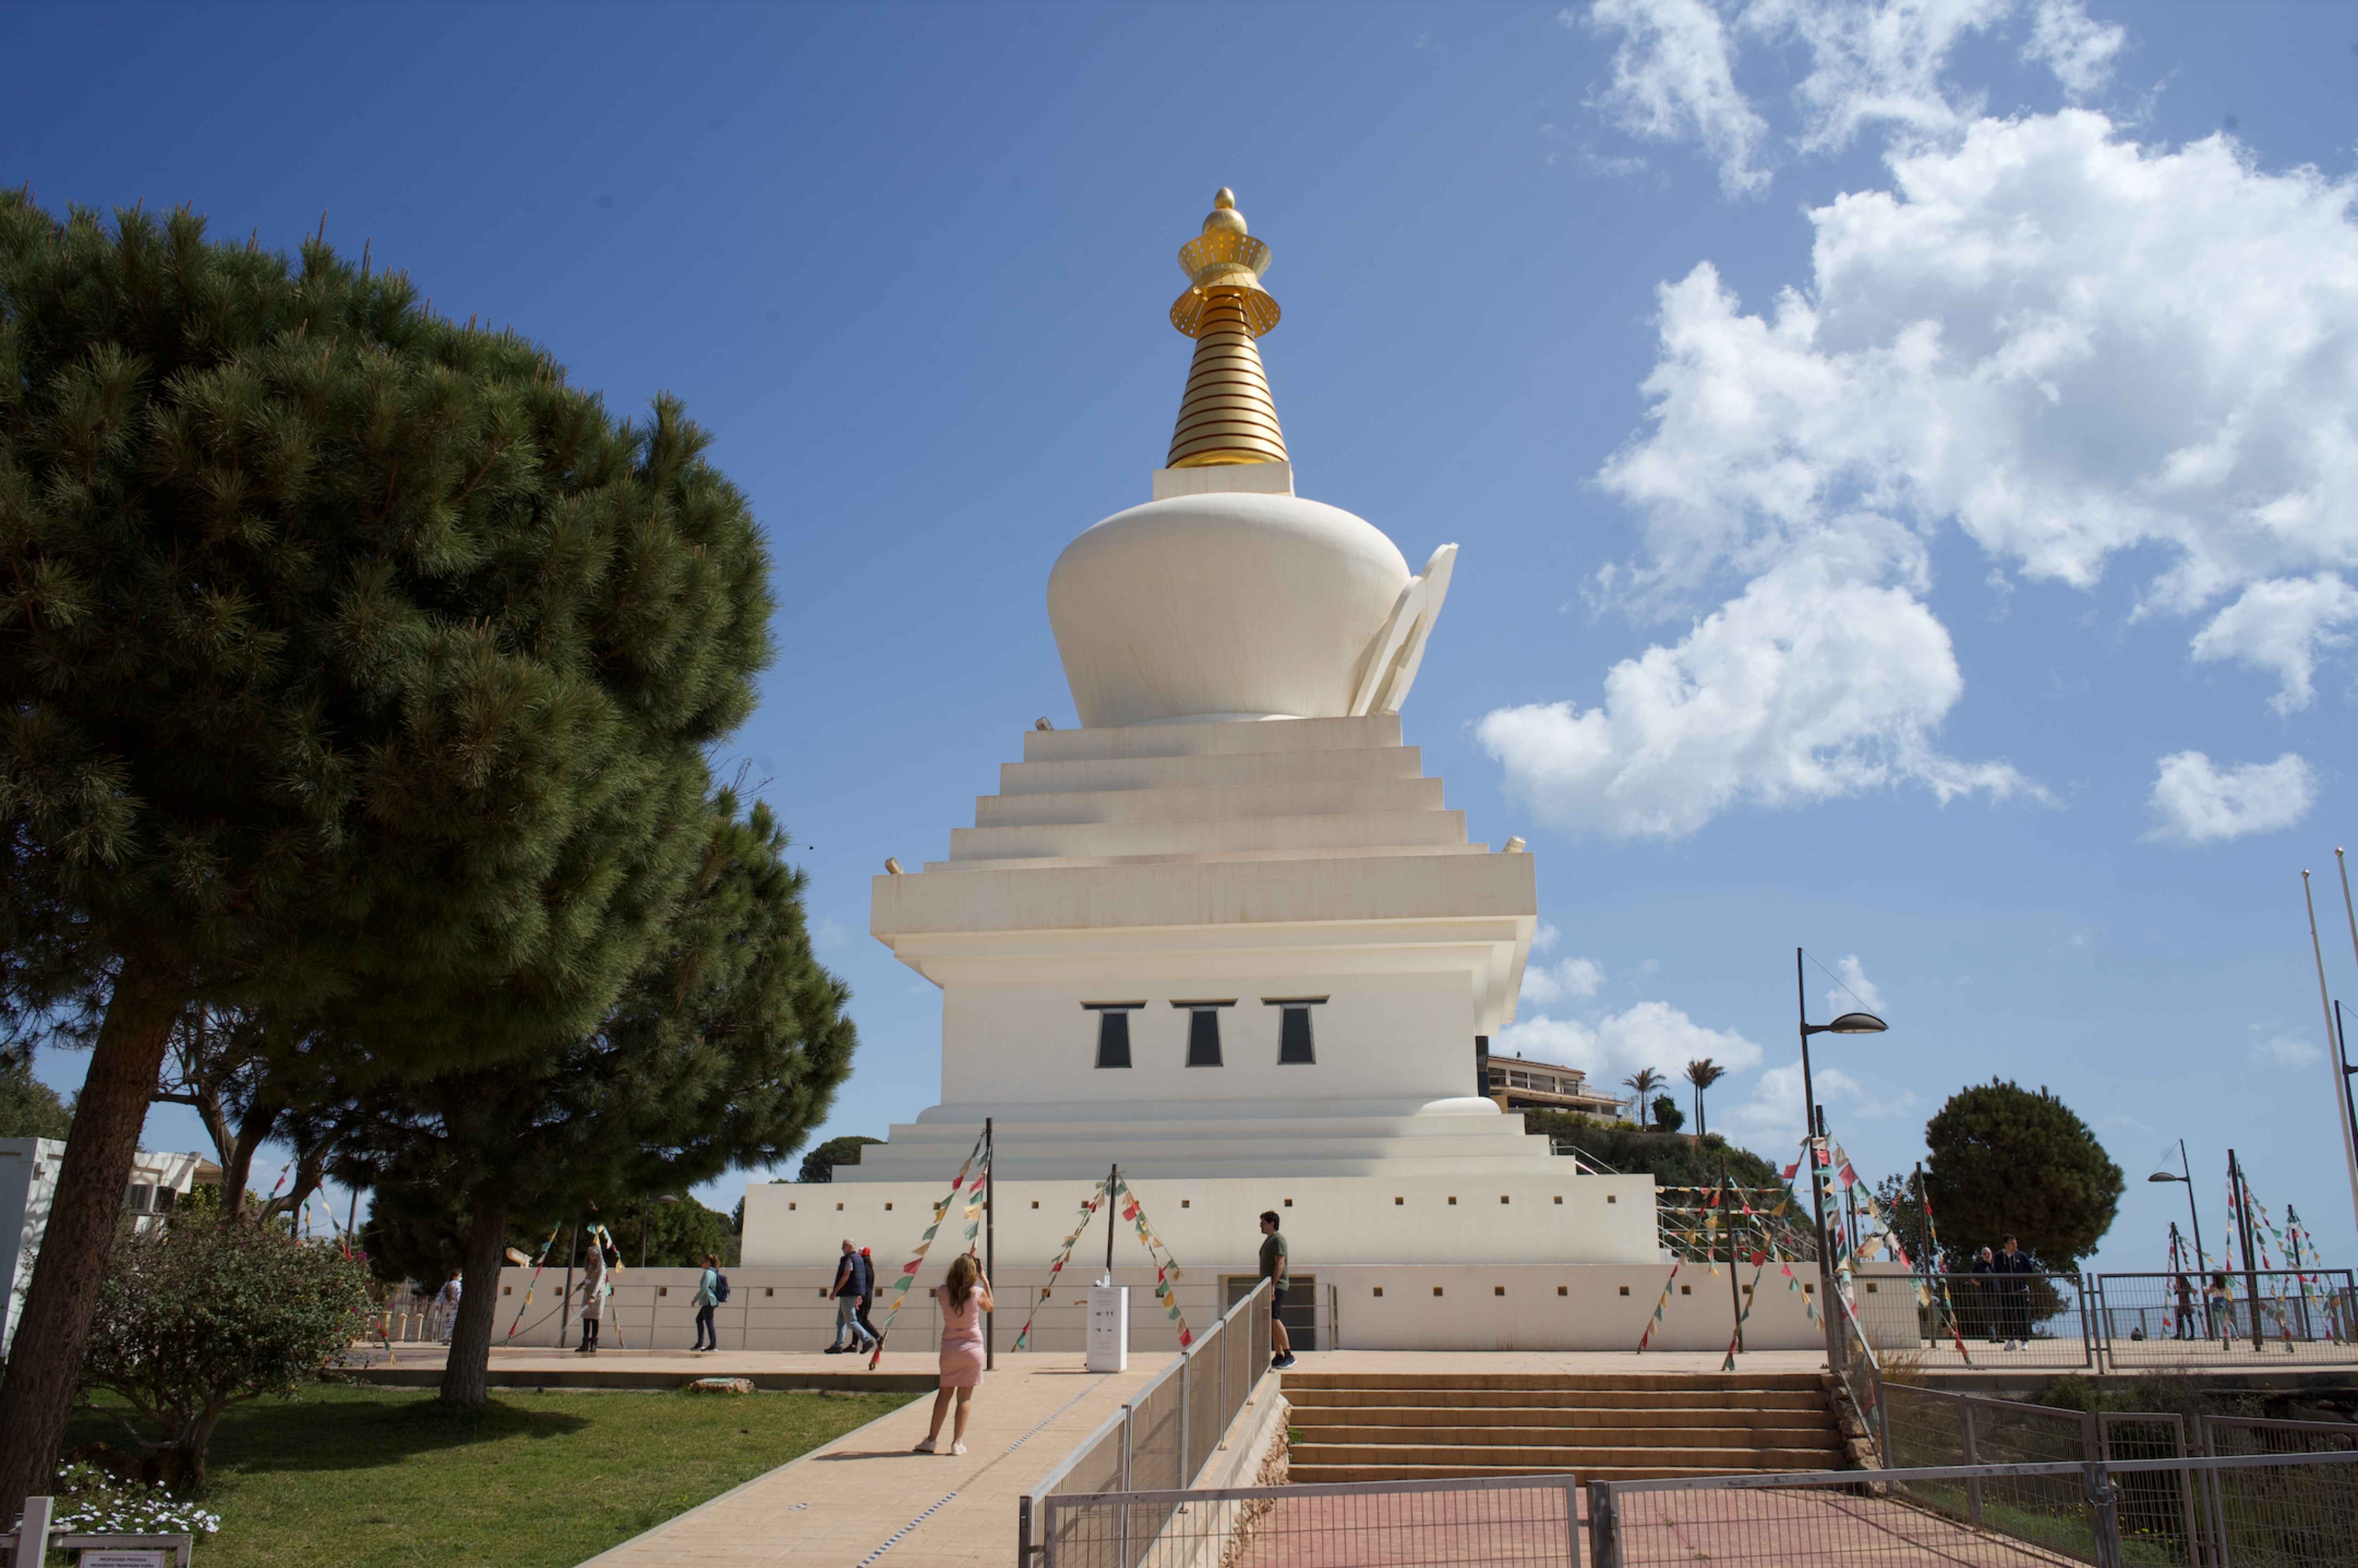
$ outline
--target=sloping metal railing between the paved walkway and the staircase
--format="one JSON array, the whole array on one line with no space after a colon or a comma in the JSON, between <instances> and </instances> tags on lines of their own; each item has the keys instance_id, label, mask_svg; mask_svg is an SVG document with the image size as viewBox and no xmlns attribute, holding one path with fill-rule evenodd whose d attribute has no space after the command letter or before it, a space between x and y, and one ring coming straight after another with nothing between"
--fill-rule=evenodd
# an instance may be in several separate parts
<instances>
[{"instance_id":1,"label":"sloping metal railing between the paved walkway and the staircase","mask_svg":"<svg viewBox=\"0 0 2358 1568\"><path fill-rule=\"evenodd\" d=\"M1186 1488L1266 1375L1269 1280L1262 1280L1023 1495L1016 1568L1030 1568L1035 1554L1056 1561L1049 1504L1061 1497ZM1125 1554L1151 1547L1167 1518L1167 1507L1132 1502L1113 1556L1071 1561L1134 1568L1144 1559Z\"/></svg>"}]
</instances>

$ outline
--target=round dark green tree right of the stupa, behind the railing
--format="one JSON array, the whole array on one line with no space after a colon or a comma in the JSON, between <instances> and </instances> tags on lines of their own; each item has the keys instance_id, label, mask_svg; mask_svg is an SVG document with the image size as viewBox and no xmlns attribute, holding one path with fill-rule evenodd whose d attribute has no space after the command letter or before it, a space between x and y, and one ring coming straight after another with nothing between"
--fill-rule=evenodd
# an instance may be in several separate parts
<instances>
[{"instance_id":1,"label":"round dark green tree right of the stupa, behind the railing","mask_svg":"<svg viewBox=\"0 0 2358 1568\"><path fill-rule=\"evenodd\" d=\"M2120 1167L2047 1089L1997 1078L1957 1089L1924 1122L1924 1191L1950 1254L2014 1236L2042 1269L2070 1273L2120 1210Z\"/></svg>"}]
</instances>

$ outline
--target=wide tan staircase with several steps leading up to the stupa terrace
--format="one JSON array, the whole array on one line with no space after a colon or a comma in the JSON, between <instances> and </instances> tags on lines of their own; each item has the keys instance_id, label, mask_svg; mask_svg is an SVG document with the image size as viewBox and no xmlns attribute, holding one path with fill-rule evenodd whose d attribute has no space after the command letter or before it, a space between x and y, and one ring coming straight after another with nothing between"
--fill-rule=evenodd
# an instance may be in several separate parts
<instances>
[{"instance_id":1,"label":"wide tan staircase with several steps leading up to the stupa terrace","mask_svg":"<svg viewBox=\"0 0 2358 1568\"><path fill-rule=\"evenodd\" d=\"M1297 1483L1839 1469L1816 1372L1285 1372Z\"/></svg>"}]
</instances>

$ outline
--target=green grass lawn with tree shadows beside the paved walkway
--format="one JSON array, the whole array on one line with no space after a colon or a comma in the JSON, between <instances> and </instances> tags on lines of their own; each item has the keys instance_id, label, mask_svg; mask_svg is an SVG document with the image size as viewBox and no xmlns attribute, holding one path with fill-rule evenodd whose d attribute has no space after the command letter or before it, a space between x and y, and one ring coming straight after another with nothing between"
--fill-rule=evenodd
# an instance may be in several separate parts
<instances>
[{"instance_id":1,"label":"green grass lawn with tree shadows beside the paved walkway","mask_svg":"<svg viewBox=\"0 0 2358 1568\"><path fill-rule=\"evenodd\" d=\"M910 1394L533 1394L448 1415L432 1389L307 1389L222 1417L200 1568L573 1568ZM80 1410L66 1443L120 1441Z\"/></svg>"}]
</instances>

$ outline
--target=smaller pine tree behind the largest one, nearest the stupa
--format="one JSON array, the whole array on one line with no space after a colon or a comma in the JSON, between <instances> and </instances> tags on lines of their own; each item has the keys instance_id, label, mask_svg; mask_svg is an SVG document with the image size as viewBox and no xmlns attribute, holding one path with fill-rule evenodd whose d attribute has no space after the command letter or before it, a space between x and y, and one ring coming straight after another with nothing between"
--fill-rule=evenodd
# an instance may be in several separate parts
<instances>
[{"instance_id":1,"label":"smaller pine tree behind the largest one, nearest the stupa","mask_svg":"<svg viewBox=\"0 0 2358 1568\"><path fill-rule=\"evenodd\" d=\"M722 792L707 823L677 917L599 1028L500 1073L363 1096L387 1236L443 1236L436 1254L455 1247L488 1283L512 1221L545 1233L594 1205L620 1240L641 1198L778 1165L825 1118L851 1070L851 993L811 957L769 806ZM495 1311L493 1290L460 1297L443 1401L483 1403Z\"/></svg>"}]
</instances>

